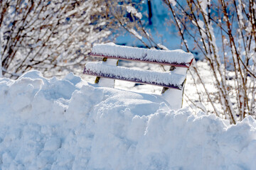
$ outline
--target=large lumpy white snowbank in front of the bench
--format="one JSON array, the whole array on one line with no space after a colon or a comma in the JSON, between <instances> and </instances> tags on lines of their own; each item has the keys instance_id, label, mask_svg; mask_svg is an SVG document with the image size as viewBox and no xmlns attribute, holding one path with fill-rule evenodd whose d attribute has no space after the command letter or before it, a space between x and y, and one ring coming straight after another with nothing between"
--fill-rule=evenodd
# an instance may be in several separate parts
<instances>
[{"instance_id":1,"label":"large lumpy white snowbank in front of the bench","mask_svg":"<svg viewBox=\"0 0 256 170\"><path fill-rule=\"evenodd\" d=\"M0 169L256 169L256 121L237 125L156 95L68 74L0 79Z\"/></svg>"}]
</instances>

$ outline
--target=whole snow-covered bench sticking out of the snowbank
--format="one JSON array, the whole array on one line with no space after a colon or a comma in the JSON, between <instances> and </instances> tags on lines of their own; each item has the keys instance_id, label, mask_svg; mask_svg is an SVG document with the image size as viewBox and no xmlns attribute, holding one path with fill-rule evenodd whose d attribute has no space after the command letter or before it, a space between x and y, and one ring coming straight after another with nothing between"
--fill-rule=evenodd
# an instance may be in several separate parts
<instances>
[{"instance_id":1,"label":"whole snow-covered bench sticking out of the snowbank","mask_svg":"<svg viewBox=\"0 0 256 170\"><path fill-rule=\"evenodd\" d=\"M114 87L114 81L100 79L100 77L163 86L162 96L166 101L175 109L181 108L186 72L193 62L191 53L183 50L151 50L107 43L94 45L91 55L103 57L103 62L87 62L84 74L96 76L95 83L99 83L100 86ZM172 71L154 72L117 67L118 60L169 65Z\"/></svg>"}]
</instances>

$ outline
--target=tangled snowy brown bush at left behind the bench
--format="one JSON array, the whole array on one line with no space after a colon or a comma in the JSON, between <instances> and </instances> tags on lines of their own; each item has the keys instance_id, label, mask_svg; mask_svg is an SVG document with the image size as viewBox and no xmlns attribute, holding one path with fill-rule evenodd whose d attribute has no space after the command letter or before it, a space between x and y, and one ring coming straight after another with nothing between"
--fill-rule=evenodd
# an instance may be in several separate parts
<instances>
[{"instance_id":1,"label":"tangled snowy brown bush at left behind the bench","mask_svg":"<svg viewBox=\"0 0 256 170\"><path fill-rule=\"evenodd\" d=\"M5 77L33 68L44 68L41 71L50 76L65 71L58 66L66 63L66 69L82 69L92 42L110 35L111 21L102 0L0 3L2 66L14 73L3 72Z\"/></svg>"}]
</instances>

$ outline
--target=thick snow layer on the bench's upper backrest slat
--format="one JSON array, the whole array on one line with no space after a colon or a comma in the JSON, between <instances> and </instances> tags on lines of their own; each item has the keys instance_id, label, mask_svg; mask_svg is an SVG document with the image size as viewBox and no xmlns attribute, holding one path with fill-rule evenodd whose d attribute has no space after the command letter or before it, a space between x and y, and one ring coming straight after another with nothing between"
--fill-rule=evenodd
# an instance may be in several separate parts
<instances>
[{"instance_id":1,"label":"thick snow layer on the bench's upper backrest slat","mask_svg":"<svg viewBox=\"0 0 256 170\"><path fill-rule=\"evenodd\" d=\"M167 62L167 63L190 63L193 55L183 50L154 50L139 47L128 47L115 45L113 42L107 44L95 44L92 47L93 55L104 55L113 57L122 57L124 59L146 60L149 62ZM188 65L189 66L189 65Z\"/></svg>"}]
</instances>

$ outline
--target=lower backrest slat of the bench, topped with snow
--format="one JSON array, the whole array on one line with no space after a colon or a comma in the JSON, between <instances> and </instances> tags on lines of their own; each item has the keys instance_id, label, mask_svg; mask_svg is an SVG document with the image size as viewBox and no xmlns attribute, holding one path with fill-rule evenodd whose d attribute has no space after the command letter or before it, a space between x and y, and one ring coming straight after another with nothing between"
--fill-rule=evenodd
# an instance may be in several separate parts
<instances>
[{"instance_id":1,"label":"lower backrest slat of the bench, topped with snow","mask_svg":"<svg viewBox=\"0 0 256 170\"><path fill-rule=\"evenodd\" d=\"M181 74L116 67L102 62L87 62L85 65L84 74L109 79L134 81L142 84L153 84L156 86L164 86L179 90L183 88L183 82L186 79L186 77Z\"/></svg>"}]
</instances>

